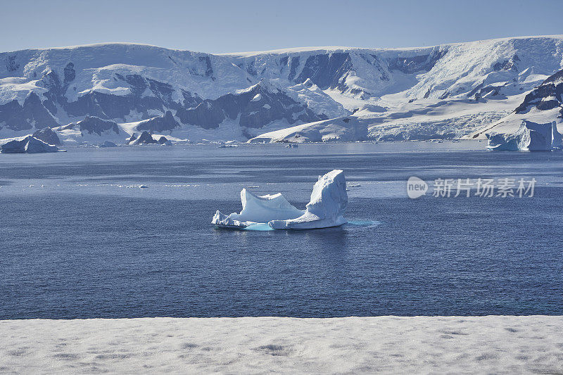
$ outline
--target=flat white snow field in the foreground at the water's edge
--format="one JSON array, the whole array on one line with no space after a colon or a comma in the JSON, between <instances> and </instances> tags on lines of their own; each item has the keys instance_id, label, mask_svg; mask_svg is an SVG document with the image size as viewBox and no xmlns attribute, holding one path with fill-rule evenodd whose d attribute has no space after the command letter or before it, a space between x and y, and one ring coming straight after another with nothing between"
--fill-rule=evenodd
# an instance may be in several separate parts
<instances>
[{"instance_id":1,"label":"flat white snow field in the foreground at the water's edge","mask_svg":"<svg viewBox=\"0 0 563 375\"><path fill-rule=\"evenodd\" d=\"M563 371L563 317L0 321L5 373Z\"/></svg>"}]
</instances>

